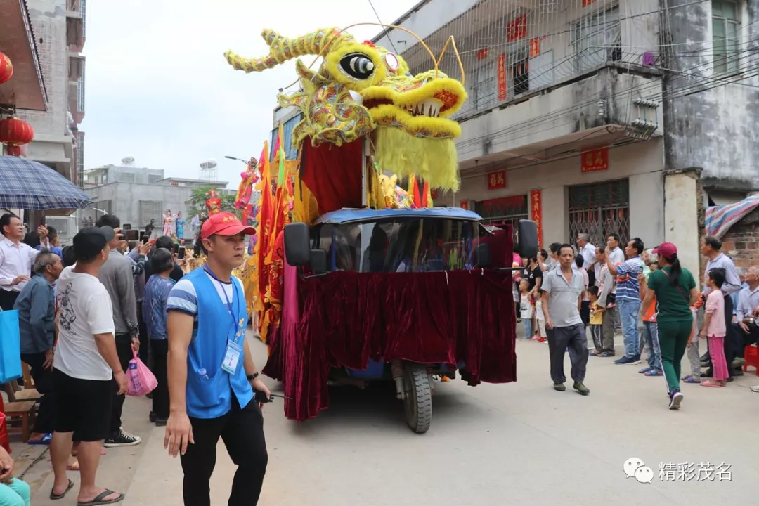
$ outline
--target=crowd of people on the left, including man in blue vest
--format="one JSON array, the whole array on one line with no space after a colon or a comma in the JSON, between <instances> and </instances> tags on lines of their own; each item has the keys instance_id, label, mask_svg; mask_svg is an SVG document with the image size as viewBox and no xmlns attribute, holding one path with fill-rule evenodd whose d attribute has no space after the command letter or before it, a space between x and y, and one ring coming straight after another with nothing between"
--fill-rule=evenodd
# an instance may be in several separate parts
<instances>
[{"instance_id":1,"label":"crowd of people on the left, including man in blue vest","mask_svg":"<svg viewBox=\"0 0 759 506\"><path fill-rule=\"evenodd\" d=\"M181 455L184 504L209 504L219 438L238 464L229 504L255 504L268 457L265 399L254 391L270 393L244 338L247 303L232 275L254 229L227 212L208 218L197 244L202 267L189 249L179 259L172 237L125 241L115 215L62 249L52 227L27 234L11 213L0 230L0 309L18 311L19 358L42 395L28 442L50 446L50 498L64 498L74 488L67 471L78 471L80 506L124 499L96 485L96 470L104 447L141 442L121 422L127 372L139 359L156 376L150 422L165 426L165 447ZM0 504L28 506L29 487L13 477L5 451L0 464Z\"/></svg>"}]
</instances>

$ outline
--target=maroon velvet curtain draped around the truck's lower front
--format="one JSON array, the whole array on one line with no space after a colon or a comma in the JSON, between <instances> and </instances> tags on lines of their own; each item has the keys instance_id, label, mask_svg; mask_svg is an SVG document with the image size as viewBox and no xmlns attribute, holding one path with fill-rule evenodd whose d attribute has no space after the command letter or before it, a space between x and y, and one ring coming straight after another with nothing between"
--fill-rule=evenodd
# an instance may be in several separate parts
<instances>
[{"instance_id":1,"label":"maroon velvet curtain draped around the truck's lower front","mask_svg":"<svg viewBox=\"0 0 759 506\"><path fill-rule=\"evenodd\" d=\"M283 319L263 371L293 398L288 418L329 406L330 367L364 369L369 358L463 360L469 385L516 380L510 272L332 272L297 283L301 316L290 328Z\"/></svg>"}]
</instances>

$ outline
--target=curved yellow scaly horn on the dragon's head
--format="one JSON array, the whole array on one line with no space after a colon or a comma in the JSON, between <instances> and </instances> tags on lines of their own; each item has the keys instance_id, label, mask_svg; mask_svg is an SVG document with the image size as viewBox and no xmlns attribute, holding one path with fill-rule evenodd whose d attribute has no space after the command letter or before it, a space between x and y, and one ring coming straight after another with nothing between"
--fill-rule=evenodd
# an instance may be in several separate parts
<instances>
[{"instance_id":1,"label":"curved yellow scaly horn on the dragon's head","mask_svg":"<svg viewBox=\"0 0 759 506\"><path fill-rule=\"evenodd\" d=\"M269 55L264 58L243 58L234 52L224 53L228 63L238 71L261 72L292 58L303 55L323 55L335 44L348 42L353 36L343 33L337 28L326 28L307 33L297 39L288 39L274 30L263 30L261 36L269 45Z\"/></svg>"}]
</instances>

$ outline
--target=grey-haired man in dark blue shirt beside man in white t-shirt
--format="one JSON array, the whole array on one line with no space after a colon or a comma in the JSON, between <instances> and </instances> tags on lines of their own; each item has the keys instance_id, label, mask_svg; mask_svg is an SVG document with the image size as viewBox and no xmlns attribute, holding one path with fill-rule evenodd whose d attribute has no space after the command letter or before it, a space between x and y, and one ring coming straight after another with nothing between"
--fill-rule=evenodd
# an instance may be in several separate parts
<instances>
[{"instance_id":1,"label":"grey-haired man in dark blue shirt beside man in white t-shirt","mask_svg":"<svg viewBox=\"0 0 759 506\"><path fill-rule=\"evenodd\" d=\"M46 445L53 431L52 359L55 342L55 304L53 284L63 270L61 257L40 250L32 264L32 278L19 294L18 310L21 360L30 369L39 399L39 413L30 435L30 445Z\"/></svg>"}]
</instances>

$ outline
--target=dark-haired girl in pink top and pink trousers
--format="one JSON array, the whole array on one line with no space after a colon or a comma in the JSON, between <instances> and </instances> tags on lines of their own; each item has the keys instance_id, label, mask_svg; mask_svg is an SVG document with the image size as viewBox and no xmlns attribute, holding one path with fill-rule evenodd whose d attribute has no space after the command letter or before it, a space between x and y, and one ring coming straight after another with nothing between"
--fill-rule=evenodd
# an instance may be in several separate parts
<instances>
[{"instance_id":1,"label":"dark-haired girl in pink top and pink trousers","mask_svg":"<svg viewBox=\"0 0 759 506\"><path fill-rule=\"evenodd\" d=\"M707 285L711 288L704 311L704 327L698 333L699 338L707 338L709 356L712 359L713 379L701 382L704 387L723 387L729 376L725 357L725 296L722 285L725 283L725 269L711 269L707 274Z\"/></svg>"}]
</instances>

